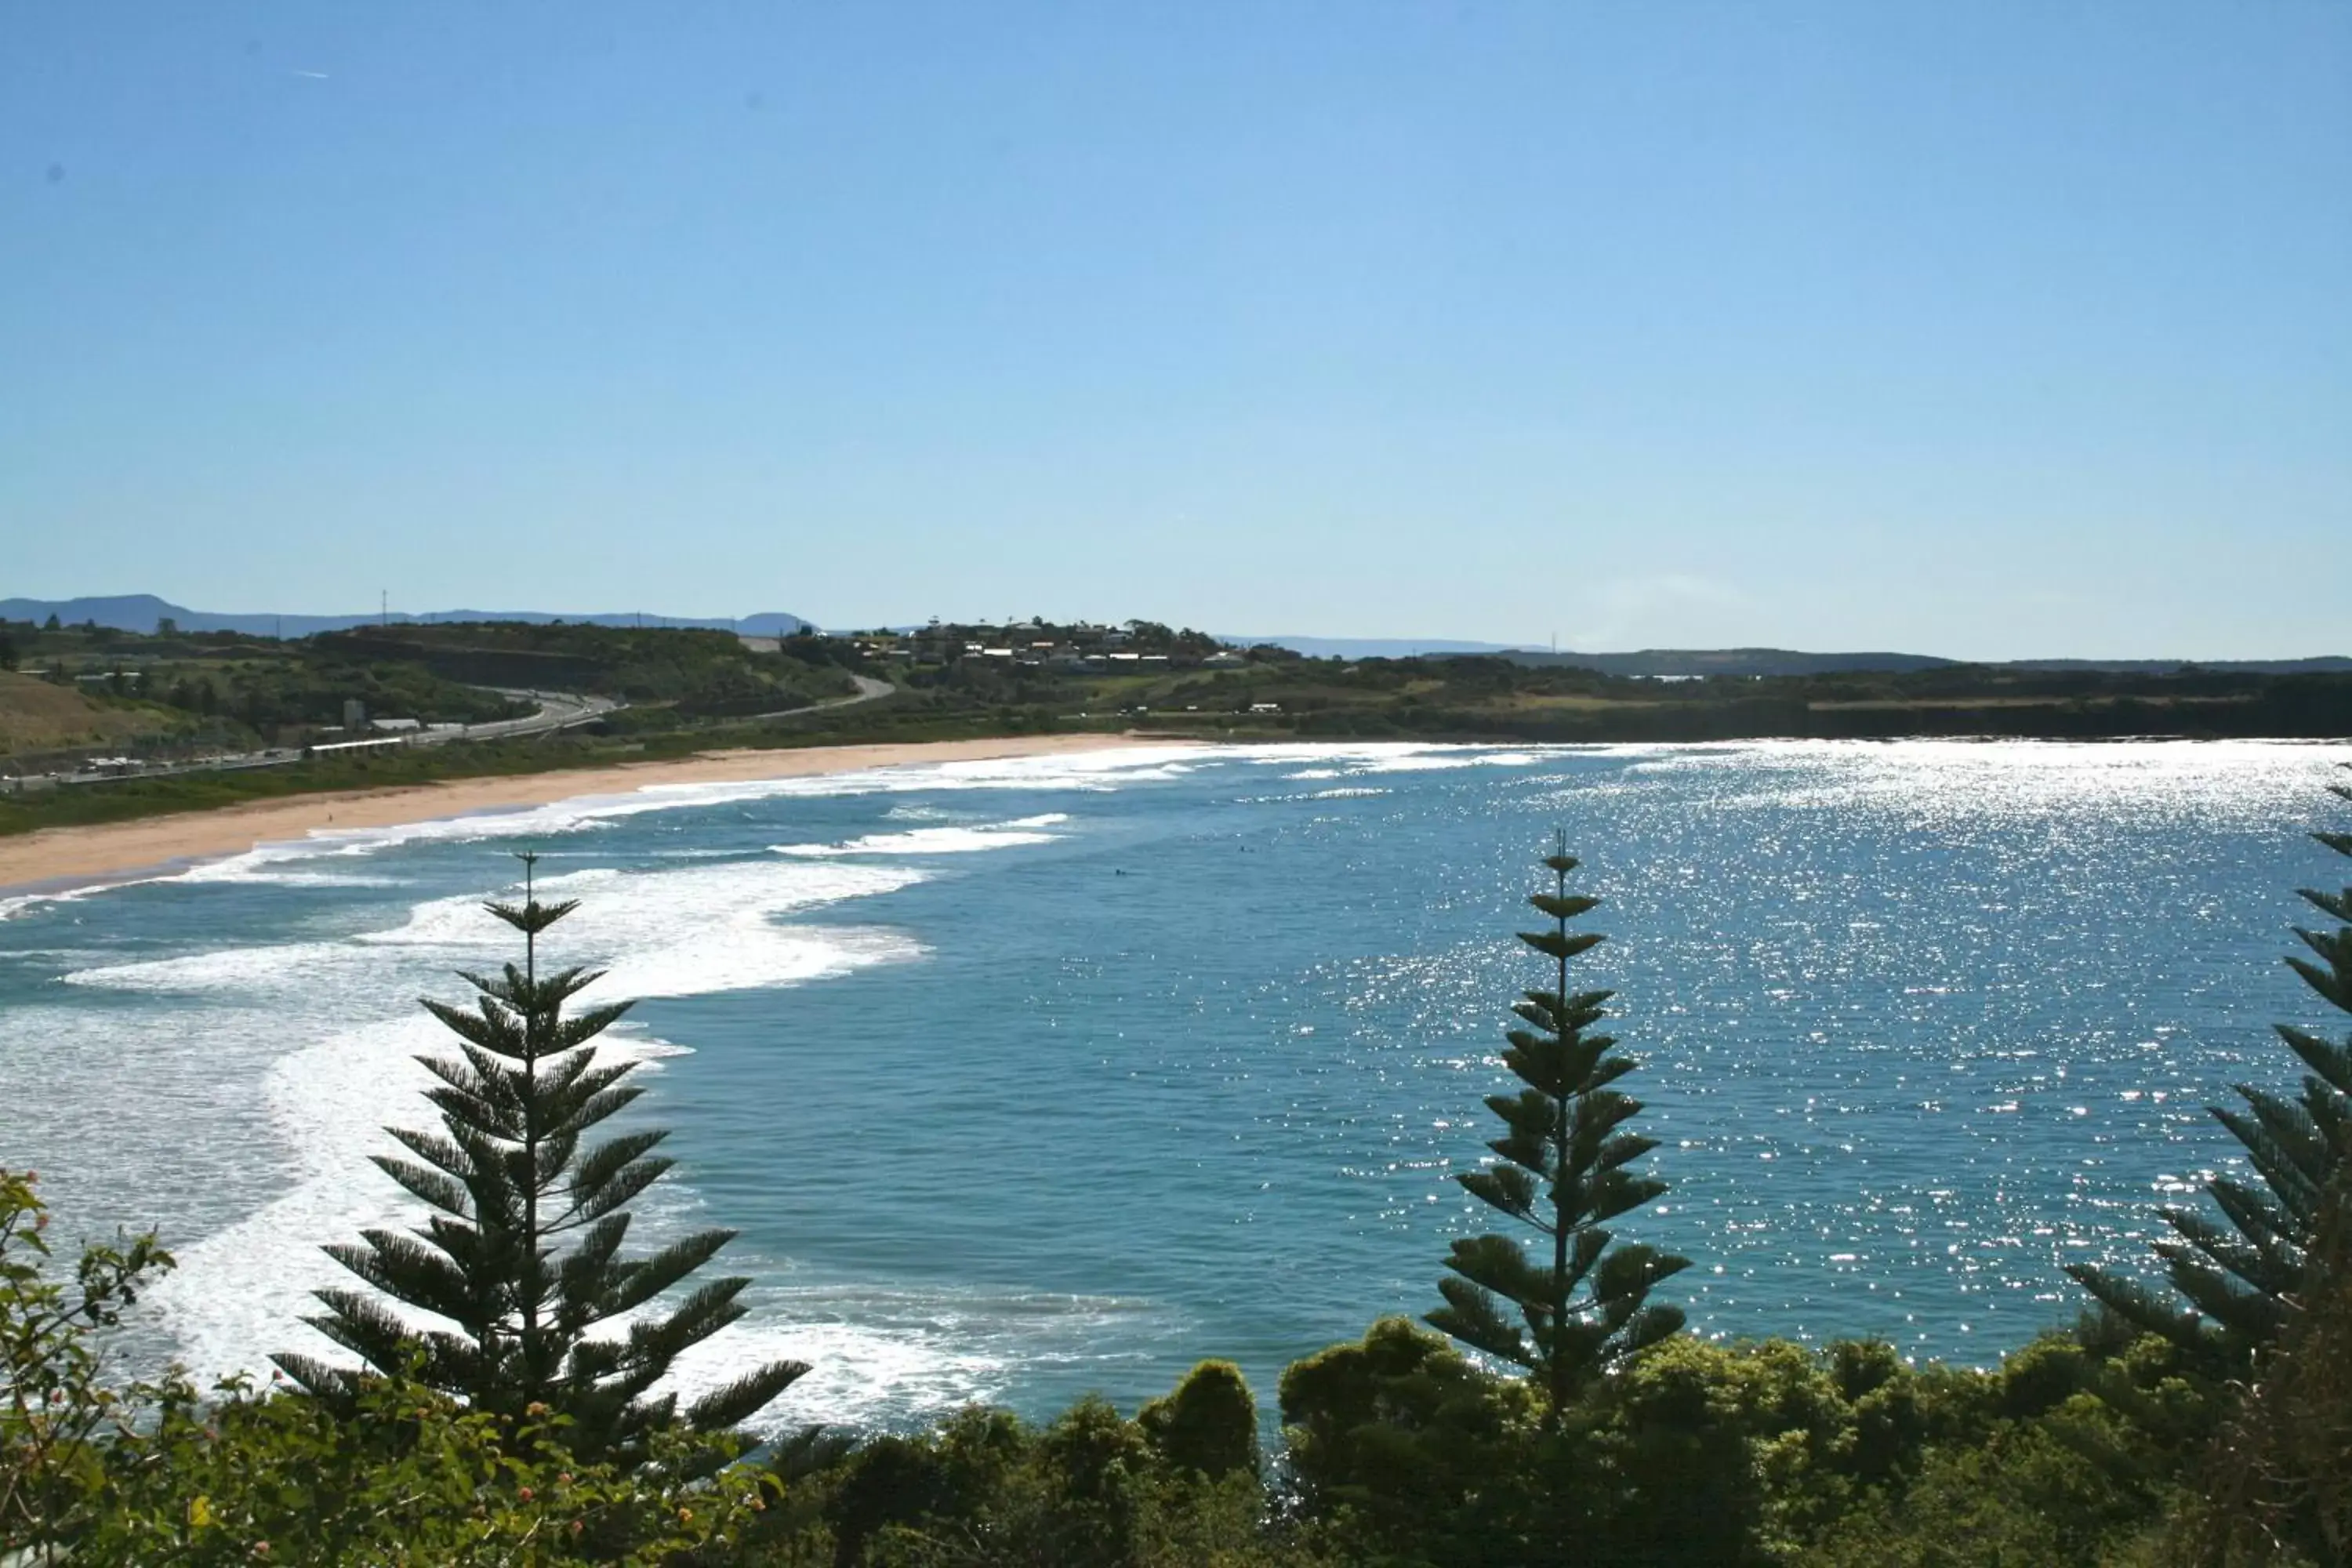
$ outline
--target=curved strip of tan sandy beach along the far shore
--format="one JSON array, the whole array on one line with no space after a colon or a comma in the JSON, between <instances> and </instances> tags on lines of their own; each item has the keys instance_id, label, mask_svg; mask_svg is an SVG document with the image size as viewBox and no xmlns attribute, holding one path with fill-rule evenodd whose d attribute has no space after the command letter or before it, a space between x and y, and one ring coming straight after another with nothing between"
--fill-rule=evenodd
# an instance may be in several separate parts
<instances>
[{"instance_id":1,"label":"curved strip of tan sandy beach along the far shore","mask_svg":"<svg viewBox=\"0 0 2352 1568\"><path fill-rule=\"evenodd\" d=\"M132 823L92 827L45 827L0 839L0 893L106 882L238 856L256 844L301 839L320 827L393 827L501 806L543 806L583 795L628 795L647 785L739 783L750 778L807 778L924 762L990 762L997 757L1044 757L1134 745L1167 745L1134 736L1002 736L995 741L927 741L917 745L809 745L797 750L703 752L673 762L628 762L602 769L513 773L501 778L452 778L395 790L336 790L289 799L181 811Z\"/></svg>"}]
</instances>

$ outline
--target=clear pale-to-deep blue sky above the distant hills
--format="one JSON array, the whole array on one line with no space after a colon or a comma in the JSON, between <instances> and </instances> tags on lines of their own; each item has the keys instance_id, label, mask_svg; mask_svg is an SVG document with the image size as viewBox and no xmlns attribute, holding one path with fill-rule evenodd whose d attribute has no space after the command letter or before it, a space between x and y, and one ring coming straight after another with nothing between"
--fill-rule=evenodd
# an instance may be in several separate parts
<instances>
[{"instance_id":1,"label":"clear pale-to-deep blue sky above the distant hills","mask_svg":"<svg viewBox=\"0 0 2352 1568\"><path fill-rule=\"evenodd\" d=\"M0 595L2352 651L2345 0L0 5Z\"/></svg>"}]
</instances>

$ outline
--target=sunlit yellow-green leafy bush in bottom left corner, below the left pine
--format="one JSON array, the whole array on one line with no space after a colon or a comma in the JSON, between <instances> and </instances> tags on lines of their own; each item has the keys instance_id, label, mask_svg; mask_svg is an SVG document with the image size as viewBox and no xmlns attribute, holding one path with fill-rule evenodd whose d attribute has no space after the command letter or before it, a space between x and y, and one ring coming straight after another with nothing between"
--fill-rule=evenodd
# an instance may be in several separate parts
<instances>
[{"instance_id":1,"label":"sunlit yellow-green leafy bush in bottom left corner, below the left pine","mask_svg":"<svg viewBox=\"0 0 2352 1568\"><path fill-rule=\"evenodd\" d=\"M659 1434L656 1465L623 1474L574 1462L543 1406L503 1422L407 1378L358 1382L346 1410L242 1380L118 1389L99 1335L172 1258L92 1246L64 1284L45 1232L33 1175L0 1173L0 1561L717 1561L783 1495L760 1467L652 1479L715 1469L724 1436Z\"/></svg>"}]
</instances>

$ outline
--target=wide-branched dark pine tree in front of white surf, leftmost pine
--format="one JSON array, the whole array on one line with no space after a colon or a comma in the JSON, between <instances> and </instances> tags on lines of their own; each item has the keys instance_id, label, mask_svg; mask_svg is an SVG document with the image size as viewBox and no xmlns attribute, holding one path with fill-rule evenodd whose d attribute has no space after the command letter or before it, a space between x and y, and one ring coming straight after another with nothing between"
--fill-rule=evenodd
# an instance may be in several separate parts
<instances>
[{"instance_id":1,"label":"wide-branched dark pine tree in front of white surf, leftmost pine","mask_svg":"<svg viewBox=\"0 0 2352 1568\"><path fill-rule=\"evenodd\" d=\"M332 1288L318 1293L327 1312L306 1321L365 1366L273 1359L329 1399L348 1399L360 1378L379 1373L416 1375L503 1418L543 1406L569 1420L569 1443L583 1458L635 1465L661 1427L731 1429L809 1368L771 1361L684 1410L675 1394L652 1392L680 1352L743 1316L736 1298L750 1281L706 1281L663 1312L659 1298L734 1232L706 1229L647 1258L621 1255L623 1206L670 1168L654 1154L668 1133L647 1128L583 1147L590 1128L642 1093L623 1084L633 1063L600 1063L593 1046L630 1004L562 1013L600 971L539 976L539 933L576 903L539 903L536 856L520 860L522 905L485 907L522 933L522 966L466 973L477 992L473 1011L423 1004L459 1037L456 1060L419 1058L440 1079L426 1098L442 1133L388 1128L416 1159L372 1157L433 1213L419 1232L372 1229L362 1244L327 1248L374 1291L454 1328L419 1328L369 1293Z\"/></svg>"}]
</instances>

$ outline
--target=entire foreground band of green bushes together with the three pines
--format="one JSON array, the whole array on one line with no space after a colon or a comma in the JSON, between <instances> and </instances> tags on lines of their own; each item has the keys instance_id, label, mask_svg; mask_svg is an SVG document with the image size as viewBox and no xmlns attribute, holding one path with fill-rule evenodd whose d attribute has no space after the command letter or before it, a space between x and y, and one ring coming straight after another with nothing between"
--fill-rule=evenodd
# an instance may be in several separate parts
<instances>
[{"instance_id":1,"label":"entire foreground band of green bushes together with the three pines","mask_svg":"<svg viewBox=\"0 0 2352 1568\"><path fill-rule=\"evenodd\" d=\"M2352 790L2338 790L2352 802ZM2321 835L2352 856L2352 835ZM1646 1300L1682 1262L1618 1244L1656 1178L1611 1088L1630 1060L1566 964L1592 910L1555 889L1526 940L1555 987L1519 1004L1489 1107L1505 1133L1472 1180L1550 1265L1465 1241L1432 1321L1402 1319L1291 1366L1282 1450L1218 1361L1134 1418L1082 1401L1042 1427L964 1410L927 1432L767 1446L731 1429L800 1368L677 1410L644 1371L722 1328L736 1281L689 1288L722 1234L621 1260L621 1204L659 1180L659 1133L581 1147L626 1065L597 1063L614 1009L564 1016L588 978L539 978L562 907L501 919L522 966L435 1009L459 1058L428 1063L442 1135L383 1161L435 1215L336 1248L390 1305L329 1293L362 1371L292 1363L306 1387L115 1387L106 1331L169 1258L87 1248L56 1279L31 1175L0 1178L0 1549L21 1563L826 1563L1310 1568L1388 1563L2343 1563L2352 1547L2352 1039L2281 1034L2300 1098L2220 1112L2256 1180L2209 1182L2220 1220L2169 1215L2178 1300L2086 1276L2096 1305L1997 1371L1910 1366L1889 1345L1717 1345ZM2352 889L2307 891L2296 971L2352 1013ZM602 1112L602 1114L600 1114ZM534 1199L536 1194L536 1199ZM569 1251L546 1244L572 1229ZM593 1218L590 1218L593 1213ZM583 1331L668 1302L612 1349ZM1517 1319L1512 1319L1512 1312Z\"/></svg>"}]
</instances>

